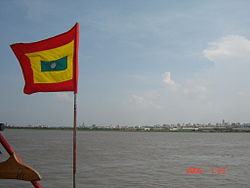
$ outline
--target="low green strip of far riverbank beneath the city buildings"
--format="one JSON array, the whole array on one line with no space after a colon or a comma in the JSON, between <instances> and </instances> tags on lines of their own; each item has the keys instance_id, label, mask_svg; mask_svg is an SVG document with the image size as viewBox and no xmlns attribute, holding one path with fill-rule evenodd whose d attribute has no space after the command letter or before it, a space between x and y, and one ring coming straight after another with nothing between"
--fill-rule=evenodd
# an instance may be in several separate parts
<instances>
[{"instance_id":1,"label":"low green strip of far riverbank beneath the city buildings","mask_svg":"<svg viewBox=\"0 0 250 188\"><path fill-rule=\"evenodd\" d=\"M33 130L73 130L73 127L48 126L5 126L6 129L33 129ZM117 131L117 132L249 132L250 127L77 127L78 131Z\"/></svg>"}]
</instances>

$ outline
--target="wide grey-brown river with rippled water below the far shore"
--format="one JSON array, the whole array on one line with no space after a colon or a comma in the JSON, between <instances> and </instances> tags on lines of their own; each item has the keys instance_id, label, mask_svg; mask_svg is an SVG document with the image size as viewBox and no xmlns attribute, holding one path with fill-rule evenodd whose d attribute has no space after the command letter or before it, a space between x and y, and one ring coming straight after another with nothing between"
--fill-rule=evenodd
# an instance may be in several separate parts
<instances>
[{"instance_id":1,"label":"wide grey-brown river with rippled water below the far shore","mask_svg":"<svg viewBox=\"0 0 250 188\"><path fill-rule=\"evenodd\" d=\"M72 187L71 131L2 134L42 175L44 188ZM0 161L7 158L4 151ZM77 188L249 188L249 177L249 133L77 133ZM33 186L0 180L0 188L17 187Z\"/></svg>"}]
</instances>

